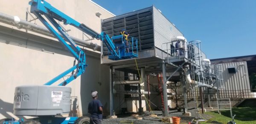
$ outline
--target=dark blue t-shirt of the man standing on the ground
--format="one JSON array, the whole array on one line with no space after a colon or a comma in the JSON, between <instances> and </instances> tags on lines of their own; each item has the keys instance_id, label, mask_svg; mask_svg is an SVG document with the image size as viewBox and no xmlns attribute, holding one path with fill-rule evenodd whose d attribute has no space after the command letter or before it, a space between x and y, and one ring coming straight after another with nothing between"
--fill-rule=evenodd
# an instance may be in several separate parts
<instances>
[{"instance_id":1,"label":"dark blue t-shirt of the man standing on the ground","mask_svg":"<svg viewBox=\"0 0 256 124\"><path fill-rule=\"evenodd\" d=\"M102 107L102 103L98 99L93 99L88 105L88 113L93 118L102 119L102 113L99 111L99 107Z\"/></svg>"}]
</instances>

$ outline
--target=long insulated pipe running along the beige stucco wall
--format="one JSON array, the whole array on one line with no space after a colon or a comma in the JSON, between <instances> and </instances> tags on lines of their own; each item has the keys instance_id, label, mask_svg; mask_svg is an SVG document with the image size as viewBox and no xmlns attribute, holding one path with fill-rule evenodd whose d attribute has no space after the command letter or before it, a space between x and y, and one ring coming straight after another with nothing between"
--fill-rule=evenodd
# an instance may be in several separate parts
<instances>
[{"instance_id":1,"label":"long insulated pipe running along the beige stucco wall","mask_svg":"<svg viewBox=\"0 0 256 124\"><path fill-rule=\"evenodd\" d=\"M36 24L33 24L33 23L29 23L25 20L20 20L20 18L17 17L17 16L13 17L13 16L10 16L10 15L7 15L7 14L0 13L0 22L16 26L18 29L22 28L22 29L33 31L33 32L36 32L36 33L39 33L39 34L49 36L49 37L54 37L52 35L52 33L46 27L36 25ZM100 46L97 45L96 43L87 42L87 41L84 41L82 39L78 39L78 38L72 37L72 36L70 36L70 38L73 39L78 45L81 45L81 46L86 47L86 48L93 49L94 51L100 51Z\"/></svg>"}]
</instances>

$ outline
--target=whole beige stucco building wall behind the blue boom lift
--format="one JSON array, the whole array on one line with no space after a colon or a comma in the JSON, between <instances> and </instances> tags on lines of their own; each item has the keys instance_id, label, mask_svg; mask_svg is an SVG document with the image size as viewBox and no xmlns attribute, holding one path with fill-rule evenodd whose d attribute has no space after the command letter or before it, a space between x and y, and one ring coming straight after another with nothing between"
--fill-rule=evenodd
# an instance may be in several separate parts
<instances>
[{"instance_id":1,"label":"whole beige stucco building wall behind the blue boom lift","mask_svg":"<svg viewBox=\"0 0 256 124\"><path fill-rule=\"evenodd\" d=\"M0 0L0 12L26 20L28 2L29 0ZM99 33L101 31L101 19L113 17L113 14L89 0L50 0L48 2ZM96 12L102 15L97 17ZM30 19L32 18L29 16L28 20ZM32 23L42 25L39 20L32 21ZM15 87L19 85L43 85L72 67L74 57L54 38L30 31L27 34L25 30L18 30L16 27L3 23L0 25L9 27L8 29L0 27L0 119L17 118L12 114ZM71 36L82 39L80 30L71 26L64 27L71 29L68 32ZM91 42L100 45L100 41L96 39ZM78 97L79 116L87 114L87 105L91 100L90 93L94 90L99 91L99 99L102 101L104 109L109 110L109 67L100 65L99 53L88 49L84 51L87 55L88 67L83 75L67 85L72 87L71 96ZM62 81L63 79L58 82ZM58 85L58 83L54 85Z\"/></svg>"}]
</instances>

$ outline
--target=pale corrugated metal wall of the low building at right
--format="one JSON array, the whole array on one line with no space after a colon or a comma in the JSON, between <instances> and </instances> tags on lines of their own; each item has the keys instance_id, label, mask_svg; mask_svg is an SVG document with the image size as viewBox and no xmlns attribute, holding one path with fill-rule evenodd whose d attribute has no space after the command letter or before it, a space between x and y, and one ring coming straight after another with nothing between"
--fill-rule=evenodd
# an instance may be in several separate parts
<instances>
[{"instance_id":1,"label":"pale corrugated metal wall of the low building at right","mask_svg":"<svg viewBox=\"0 0 256 124\"><path fill-rule=\"evenodd\" d=\"M214 65L212 65L214 66ZM228 67L234 66L236 68L236 73L229 73ZM248 76L248 69L246 61L241 62L227 62L221 63L222 77L224 83L224 89L220 90L220 98L251 98L250 96L250 82ZM220 69L220 70L221 70ZM216 83L214 84L216 87ZM189 84L186 85L187 98L192 99L192 89ZM199 97L199 90L197 90L197 96ZM177 89L178 97L183 99L183 88ZM203 88L204 93L207 95L207 88ZM216 98L216 90L210 90L211 98ZM207 96L204 96L207 97ZM198 98L200 99L200 98Z\"/></svg>"}]
</instances>

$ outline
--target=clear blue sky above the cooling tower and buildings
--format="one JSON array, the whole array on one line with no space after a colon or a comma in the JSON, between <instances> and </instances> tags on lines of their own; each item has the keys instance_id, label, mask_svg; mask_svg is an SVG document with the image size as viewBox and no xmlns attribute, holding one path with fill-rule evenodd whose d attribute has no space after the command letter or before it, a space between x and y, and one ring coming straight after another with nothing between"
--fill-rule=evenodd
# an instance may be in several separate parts
<instances>
[{"instance_id":1,"label":"clear blue sky above the cooling tower and buildings","mask_svg":"<svg viewBox=\"0 0 256 124\"><path fill-rule=\"evenodd\" d=\"M93 0L120 15L156 6L209 59L256 54L256 0Z\"/></svg>"}]
</instances>

